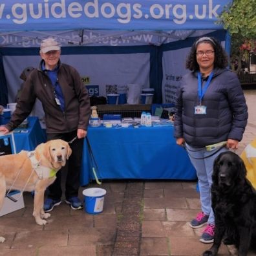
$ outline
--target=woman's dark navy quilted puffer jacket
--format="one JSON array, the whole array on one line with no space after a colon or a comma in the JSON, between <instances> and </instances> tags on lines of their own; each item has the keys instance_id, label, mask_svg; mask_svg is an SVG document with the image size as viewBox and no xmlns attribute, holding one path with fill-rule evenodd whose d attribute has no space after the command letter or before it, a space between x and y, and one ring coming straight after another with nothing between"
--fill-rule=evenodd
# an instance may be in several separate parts
<instances>
[{"instance_id":1,"label":"woman's dark navy quilted puffer jacket","mask_svg":"<svg viewBox=\"0 0 256 256\"><path fill-rule=\"evenodd\" d=\"M206 80L202 81L204 85ZM248 108L237 75L215 69L202 98L206 114L194 114L198 100L197 72L182 78L176 91L175 138L184 138L192 147L205 147L228 139L242 140Z\"/></svg>"}]
</instances>

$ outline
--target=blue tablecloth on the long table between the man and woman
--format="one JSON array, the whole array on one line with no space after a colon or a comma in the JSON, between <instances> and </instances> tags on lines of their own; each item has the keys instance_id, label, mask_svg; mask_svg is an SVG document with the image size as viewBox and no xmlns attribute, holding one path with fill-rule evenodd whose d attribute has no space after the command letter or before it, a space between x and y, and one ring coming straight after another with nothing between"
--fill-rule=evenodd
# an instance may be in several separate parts
<instances>
[{"instance_id":1,"label":"blue tablecloth on the long table between the man and woman","mask_svg":"<svg viewBox=\"0 0 256 256\"><path fill-rule=\"evenodd\" d=\"M186 151L176 145L173 127L89 127L87 137L98 165L99 179L197 178ZM92 167L85 140L82 186L94 179Z\"/></svg>"}]
</instances>

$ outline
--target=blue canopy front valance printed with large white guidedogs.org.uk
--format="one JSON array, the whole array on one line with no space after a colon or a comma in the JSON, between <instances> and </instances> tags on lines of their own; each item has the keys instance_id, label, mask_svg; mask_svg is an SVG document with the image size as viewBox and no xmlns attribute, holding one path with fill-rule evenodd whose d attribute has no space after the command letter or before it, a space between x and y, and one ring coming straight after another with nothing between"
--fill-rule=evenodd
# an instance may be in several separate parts
<instances>
[{"instance_id":1,"label":"blue canopy front valance printed with large white guidedogs.org.uk","mask_svg":"<svg viewBox=\"0 0 256 256\"><path fill-rule=\"evenodd\" d=\"M231 0L12 0L0 3L0 32L17 30L218 29Z\"/></svg>"}]
</instances>

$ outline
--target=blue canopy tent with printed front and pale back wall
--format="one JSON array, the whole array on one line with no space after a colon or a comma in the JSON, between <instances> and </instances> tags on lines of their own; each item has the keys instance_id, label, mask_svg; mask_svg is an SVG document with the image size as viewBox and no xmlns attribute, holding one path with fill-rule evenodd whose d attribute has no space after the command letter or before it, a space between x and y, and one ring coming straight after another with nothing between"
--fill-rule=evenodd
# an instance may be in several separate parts
<instances>
[{"instance_id":1,"label":"blue canopy tent with printed front and pale back wall","mask_svg":"<svg viewBox=\"0 0 256 256\"><path fill-rule=\"evenodd\" d=\"M0 103L14 101L26 67L37 67L45 37L61 43L61 61L78 69L91 95L138 83L171 102L187 50L203 34L226 42L217 24L229 0L12 0L0 3ZM171 78L171 79L169 79ZM173 89L171 89L173 90Z\"/></svg>"}]
</instances>

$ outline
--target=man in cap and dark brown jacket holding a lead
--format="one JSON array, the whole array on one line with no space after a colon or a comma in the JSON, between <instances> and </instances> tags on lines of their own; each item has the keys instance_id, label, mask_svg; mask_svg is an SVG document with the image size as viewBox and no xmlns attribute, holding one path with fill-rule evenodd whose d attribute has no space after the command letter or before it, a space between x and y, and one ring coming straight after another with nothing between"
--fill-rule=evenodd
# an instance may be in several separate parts
<instances>
[{"instance_id":1,"label":"man in cap and dark brown jacket holding a lead","mask_svg":"<svg viewBox=\"0 0 256 256\"><path fill-rule=\"evenodd\" d=\"M38 98L45 111L47 140L62 139L70 142L72 155L67 162L67 179L65 182L65 202L72 209L82 209L78 198L80 187L80 167L83 151L83 138L87 134L90 100L87 89L81 83L78 71L59 60L61 48L53 38L41 41L41 62L32 70L23 85L17 102L16 111L9 123L0 127L0 131L8 133L19 125L32 111ZM48 198L44 210L52 211L61 204L61 171L48 187Z\"/></svg>"}]
</instances>

